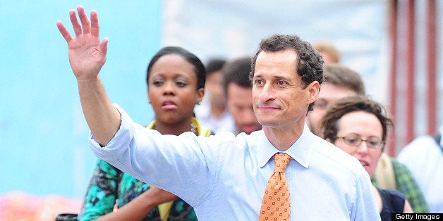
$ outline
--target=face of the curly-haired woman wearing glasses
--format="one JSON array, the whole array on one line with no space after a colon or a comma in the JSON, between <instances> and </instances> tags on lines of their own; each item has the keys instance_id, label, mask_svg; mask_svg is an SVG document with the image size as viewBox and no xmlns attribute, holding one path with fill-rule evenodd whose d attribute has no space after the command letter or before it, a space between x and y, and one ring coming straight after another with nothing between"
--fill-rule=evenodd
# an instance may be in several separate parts
<instances>
[{"instance_id":1,"label":"face of the curly-haired woman wearing glasses","mask_svg":"<svg viewBox=\"0 0 443 221\"><path fill-rule=\"evenodd\" d=\"M372 174L377 168L377 162L382 154L382 149L380 146L375 145L378 148L371 148L371 144L376 144L377 140L382 140L383 128L380 120L372 113L367 113L364 111L355 111L351 113L346 113L337 122L338 131L337 137L351 137L350 141L356 141L356 138L368 141L361 141L360 145L353 146L346 143L342 138L337 138L335 141L335 146L346 151L346 153L351 154L357 158L363 168L372 177ZM349 143L349 142L348 142ZM358 142L357 142L358 143Z\"/></svg>"}]
</instances>

